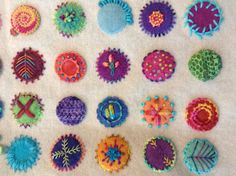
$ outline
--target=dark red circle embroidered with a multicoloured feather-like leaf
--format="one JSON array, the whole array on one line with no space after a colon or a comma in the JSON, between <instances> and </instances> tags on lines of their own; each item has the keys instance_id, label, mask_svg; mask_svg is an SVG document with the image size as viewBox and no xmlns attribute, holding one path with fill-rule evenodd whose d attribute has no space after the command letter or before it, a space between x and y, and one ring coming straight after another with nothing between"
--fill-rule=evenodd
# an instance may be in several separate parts
<instances>
[{"instance_id":1,"label":"dark red circle embroidered with a multicoloured feather-like leaf","mask_svg":"<svg viewBox=\"0 0 236 176\"><path fill-rule=\"evenodd\" d=\"M13 74L16 75L16 79L20 79L26 84L39 80L45 69L45 61L42 57L43 55L31 48L17 52L12 62Z\"/></svg>"}]
</instances>

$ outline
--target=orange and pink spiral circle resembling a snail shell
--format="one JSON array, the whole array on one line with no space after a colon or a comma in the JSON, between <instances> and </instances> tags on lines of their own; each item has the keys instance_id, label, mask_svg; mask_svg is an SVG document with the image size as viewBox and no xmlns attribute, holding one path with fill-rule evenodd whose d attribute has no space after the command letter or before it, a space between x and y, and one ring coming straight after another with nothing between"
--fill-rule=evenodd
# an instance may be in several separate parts
<instances>
[{"instance_id":1,"label":"orange and pink spiral circle resembling a snail shell","mask_svg":"<svg viewBox=\"0 0 236 176\"><path fill-rule=\"evenodd\" d=\"M37 9L29 5L21 5L11 15L11 34L32 34L40 25L40 14Z\"/></svg>"}]
</instances>

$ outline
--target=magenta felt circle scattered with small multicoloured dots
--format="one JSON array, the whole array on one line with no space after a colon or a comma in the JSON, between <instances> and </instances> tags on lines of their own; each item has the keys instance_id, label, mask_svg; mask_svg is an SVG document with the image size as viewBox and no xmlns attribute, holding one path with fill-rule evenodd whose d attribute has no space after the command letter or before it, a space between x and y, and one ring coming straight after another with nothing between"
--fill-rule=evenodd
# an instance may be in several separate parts
<instances>
[{"instance_id":1,"label":"magenta felt circle scattered with small multicoloured dots","mask_svg":"<svg viewBox=\"0 0 236 176\"><path fill-rule=\"evenodd\" d=\"M149 53L143 60L143 74L147 79L160 82L169 79L175 72L176 62L174 57L163 50Z\"/></svg>"}]
</instances>

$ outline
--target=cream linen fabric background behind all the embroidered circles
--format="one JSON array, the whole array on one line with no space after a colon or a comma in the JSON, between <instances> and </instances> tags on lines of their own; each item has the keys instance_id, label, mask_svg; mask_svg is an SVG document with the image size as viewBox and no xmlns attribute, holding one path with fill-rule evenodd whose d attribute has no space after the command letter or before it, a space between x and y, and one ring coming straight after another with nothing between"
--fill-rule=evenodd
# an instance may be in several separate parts
<instances>
[{"instance_id":1,"label":"cream linen fabric background behind all the embroidered circles","mask_svg":"<svg viewBox=\"0 0 236 176\"><path fill-rule=\"evenodd\" d=\"M221 30L212 38L202 41L189 37L188 30L183 28L182 16L191 0L169 0L177 13L177 24L166 37L150 38L144 34L138 24L139 11L148 0L127 0L133 9L134 25L127 27L115 36L102 33L97 25L98 0L74 0L79 2L86 13L87 25L85 30L71 39L63 38L53 25L54 9L61 0L0 0L0 13L3 18L3 28L0 31L0 57L3 61L3 73L0 76L0 98L5 103L5 115L0 120L1 144L9 144L20 134L27 134L38 139L42 147L42 155L37 165L27 173L14 173L7 166L5 156L0 156L1 176L109 176L96 163L94 150L97 143L110 134L120 134L130 143L132 150L128 167L119 176L154 176L143 162L143 147L146 140L156 135L171 138L176 144L178 159L175 168L165 176L190 176L183 165L182 151L185 144L193 138L209 139L219 151L219 163L208 174L209 176L236 175L236 119L235 119L235 86L236 86L236 1L218 0L224 10L225 21ZM40 28L33 35L12 37L10 31L11 12L20 4L31 4L36 7L42 17ZM39 50L46 60L46 70L40 81L25 85L16 80L11 70L12 58L17 51L24 47ZM106 84L99 80L95 63L98 53L107 47L120 48L130 58L131 71L120 83ZM192 54L202 48L217 51L223 58L223 69L214 80L203 83L196 80L188 71L187 63ZM154 49L164 49L172 53L177 61L176 73L163 83L152 83L142 74L141 63L146 54ZM75 84L60 81L54 72L56 56L64 51L77 51L86 60L88 71L85 78ZM45 104L44 118L30 129L20 128L13 119L10 103L15 94L32 92L38 94ZM148 129L141 122L140 102L146 96L168 95L176 103L177 117L168 129ZM55 109L58 101L65 96L75 95L86 102L88 113L86 119L78 126L63 125L56 116ZM129 108L126 123L119 128L107 129L96 118L98 103L103 98L119 96ZM220 110L217 126L210 132L192 130L184 120L187 104L196 97L209 97L214 100ZM85 159L72 172L61 173L54 168L49 160L50 148L54 141L63 134L75 133L81 136L86 146Z\"/></svg>"}]
</instances>

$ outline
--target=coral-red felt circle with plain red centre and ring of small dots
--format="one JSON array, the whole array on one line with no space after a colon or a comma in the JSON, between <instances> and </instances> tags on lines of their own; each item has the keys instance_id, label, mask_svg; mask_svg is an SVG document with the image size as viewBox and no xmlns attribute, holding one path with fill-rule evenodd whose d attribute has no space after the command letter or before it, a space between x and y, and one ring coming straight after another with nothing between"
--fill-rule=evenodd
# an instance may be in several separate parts
<instances>
[{"instance_id":1,"label":"coral-red felt circle with plain red centre and ring of small dots","mask_svg":"<svg viewBox=\"0 0 236 176\"><path fill-rule=\"evenodd\" d=\"M78 53L66 52L57 56L55 70L61 80L76 82L84 77L87 64Z\"/></svg>"}]
</instances>

